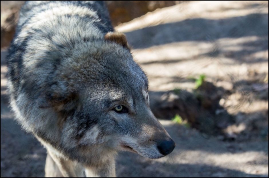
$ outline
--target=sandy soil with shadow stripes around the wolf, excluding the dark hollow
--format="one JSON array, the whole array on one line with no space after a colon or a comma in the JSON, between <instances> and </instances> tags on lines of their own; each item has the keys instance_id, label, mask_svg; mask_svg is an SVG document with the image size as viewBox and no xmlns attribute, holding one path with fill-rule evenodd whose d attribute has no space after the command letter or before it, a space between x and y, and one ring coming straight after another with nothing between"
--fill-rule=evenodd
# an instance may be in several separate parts
<instances>
[{"instance_id":1,"label":"sandy soil with shadow stripes around the wolf, excluding the dark hollow","mask_svg":"<svg viewBox=\"0 0 269 178\"><path fill-rule=\"evenodd\" d=\"M231 141L161 120L175 150L158 160L121 152L118 177L268 177L268 1L181 3L116 29L126 34L151 93L193 92L191 78L204 74L227 91L219 104L236 120L227 131L259 133ZM1 52L1 177L43 177L46 150L20 129L8 107L4 56Z\"/></svg>"}]
</instances>

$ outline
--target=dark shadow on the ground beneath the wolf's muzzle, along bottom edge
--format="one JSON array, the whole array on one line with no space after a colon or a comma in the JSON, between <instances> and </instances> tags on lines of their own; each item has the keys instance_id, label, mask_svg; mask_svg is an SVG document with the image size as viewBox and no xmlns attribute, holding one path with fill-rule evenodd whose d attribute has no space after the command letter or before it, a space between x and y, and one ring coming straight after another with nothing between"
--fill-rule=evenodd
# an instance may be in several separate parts
<instances>
[{"instance_id":1,"label":"dark shadow on the ground beneath the wolf's muzzle, along bottom edge","mask_svg":"<svg viewBox=\"0 0 269 178\"><path fill-rule=\"evenodd\" d=\"M116 167L117 177L268 177L206 164L175 163L172 158L157 162L128 152L120 153Z\"/></svg>"}]
</instances>

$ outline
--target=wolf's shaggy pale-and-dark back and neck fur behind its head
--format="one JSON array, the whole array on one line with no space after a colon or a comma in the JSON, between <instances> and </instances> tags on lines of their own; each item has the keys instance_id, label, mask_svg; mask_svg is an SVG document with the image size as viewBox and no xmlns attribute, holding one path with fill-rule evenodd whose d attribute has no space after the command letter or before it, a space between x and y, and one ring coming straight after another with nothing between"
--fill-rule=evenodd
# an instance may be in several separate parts
<instances>
[{"instance_id":1,"label":"wolf's shaggy pale-and-dark back and neck fur behind its head","mask_svg":"<svg viewBox=\"0 0 269 178\"><path fill-rule=\"evenodd\" d=\"M50 97L49 88L60 89L61 93L54 93L60 99L69 94L75 79L66 88L60 76L73 75L68 71L76 69L79 61L74 59L89 51L88 42L103 39L110 31L114 30L103 1L27 1L23 5L7 60L11 106L26 130L45 124L37 125L38 98Z\"/></svg>"}]
</instances>

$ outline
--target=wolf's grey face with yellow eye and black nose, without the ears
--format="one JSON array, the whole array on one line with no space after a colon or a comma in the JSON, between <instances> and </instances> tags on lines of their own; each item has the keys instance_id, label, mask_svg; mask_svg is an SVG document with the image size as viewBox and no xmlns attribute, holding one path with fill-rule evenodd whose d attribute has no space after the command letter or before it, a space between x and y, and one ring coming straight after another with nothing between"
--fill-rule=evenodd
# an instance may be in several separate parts
<instances>
[{"instance_id":1,"label":"wolf's grey face with yellow eye and black nose, without the ears","mask_svg":"<svg viewBox=\"0 0 269 178\"><path fill-rule=\"evenodd\" d=\"M102 49L96 57L102 65L91 64L94 70L90 73L96 73L98 80L89 79L91 82L80 97L87 98L80 118L85 118L84 126L88 125L80 126L83 131L78 129L83 133L79 137L81 143L96 142L108 149L137 152L147 158L171 153L175 142L151 112L145 73L127 49L116 44Z\"/></svg>"}]
</instances>

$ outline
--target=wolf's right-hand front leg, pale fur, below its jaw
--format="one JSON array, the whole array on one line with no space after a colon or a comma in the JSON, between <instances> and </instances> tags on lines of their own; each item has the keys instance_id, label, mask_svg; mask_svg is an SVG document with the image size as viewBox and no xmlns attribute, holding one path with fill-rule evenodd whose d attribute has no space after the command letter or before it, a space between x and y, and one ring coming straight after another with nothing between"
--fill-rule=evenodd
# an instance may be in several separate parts
<instances>
[{"instance_id":1,"label":"wolf's right-hand front leg, pale fur, below its jaw","mask_svg":"<svg viewBox=\"0 0 269 178\"><path fill-rule=\"evenodd\" d=\"M85 168L86 177L116 177L115 160L112 159L96 167Z\"/></svg>"}]
</instances>

